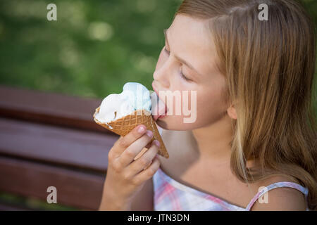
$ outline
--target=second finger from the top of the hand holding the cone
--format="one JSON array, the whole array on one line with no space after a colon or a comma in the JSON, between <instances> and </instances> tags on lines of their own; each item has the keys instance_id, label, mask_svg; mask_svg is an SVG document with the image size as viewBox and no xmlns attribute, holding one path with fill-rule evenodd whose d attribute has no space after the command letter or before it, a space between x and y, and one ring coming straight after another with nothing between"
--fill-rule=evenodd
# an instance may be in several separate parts
<instances>
[{"instance_id":1,"label":"second finger from the top of the hand holding the cone","mask_svg":"<svg viewBox=\"0 0 317 225\"><path fill-rule=\"evenodd\" d=\"M121 167L127 167L135 157L147 146L153 137L152 131L147 131L141 138L133 142L118 158Z\"/></svg>"}]
</instances>

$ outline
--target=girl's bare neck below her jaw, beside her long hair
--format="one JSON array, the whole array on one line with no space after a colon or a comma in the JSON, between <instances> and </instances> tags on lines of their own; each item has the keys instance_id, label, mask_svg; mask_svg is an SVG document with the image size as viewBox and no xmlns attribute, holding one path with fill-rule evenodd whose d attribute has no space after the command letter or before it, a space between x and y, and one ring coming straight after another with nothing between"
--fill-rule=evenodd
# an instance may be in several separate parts
<instances>
[{"instance_id":1,"label":"girl's bare neck below her jaw, beside her long hair","mask_svg":"<svg viewBox=\"0 0 317 225\"><path fill-rule=\"evenodd\" d=\"M232 119L225 114L220 120L206 127L192 130L197 141L199 158L228 162L230 161L232 140Z\"/></svg>"}]
</instances>

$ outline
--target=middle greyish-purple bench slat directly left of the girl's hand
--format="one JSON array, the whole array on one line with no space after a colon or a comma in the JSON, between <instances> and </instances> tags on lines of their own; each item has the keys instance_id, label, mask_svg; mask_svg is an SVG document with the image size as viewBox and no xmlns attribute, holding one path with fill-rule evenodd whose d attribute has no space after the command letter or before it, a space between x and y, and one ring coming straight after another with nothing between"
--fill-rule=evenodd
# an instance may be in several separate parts
<instances>
[{"instance_id":1,"label":"middle greyish-purple bench slat directly left of the girl's hand","mask_svg":"<svg viewBox=\"0 0 317 225\"><path fill-rule=\"evenodd\" d=\"M117 136L0 118L0 154L105 172Z\"/></svg>"}]
</instances>

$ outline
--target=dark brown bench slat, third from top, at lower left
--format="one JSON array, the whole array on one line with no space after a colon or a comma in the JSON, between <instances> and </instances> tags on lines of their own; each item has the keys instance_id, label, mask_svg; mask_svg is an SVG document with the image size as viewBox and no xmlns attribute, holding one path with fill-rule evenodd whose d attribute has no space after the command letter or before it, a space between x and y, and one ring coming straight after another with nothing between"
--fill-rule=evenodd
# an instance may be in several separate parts
<instances>
[{"instance_id":1,"label":"dark brown bench slat, third from top, at lower left","mask_svg":"<svg viewBox=\"0 0 317 225\"><path fill-rule=\"evenodd\" d=\"M49 186L57 189L57 203L97 210L105 175L88 174L25 160L0 157L0 191L46 201Z\"/></svg>"}]
</instances>

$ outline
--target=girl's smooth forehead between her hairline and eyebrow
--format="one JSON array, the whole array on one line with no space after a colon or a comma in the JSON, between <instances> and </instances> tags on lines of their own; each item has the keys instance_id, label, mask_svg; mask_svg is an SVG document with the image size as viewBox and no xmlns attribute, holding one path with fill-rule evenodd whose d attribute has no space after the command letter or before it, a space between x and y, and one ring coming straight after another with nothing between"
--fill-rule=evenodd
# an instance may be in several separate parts
<instances>
[{"instance_id":1,"label":"girl's smooth forehead between her hairline and eyebrow","mask_svg":"<svg viewBox=\"0 0 317 225\"><path fill-rule=\"evenodd\" d=\"M211 72L216 49L207 20L176 15L167 35L170 51L191 63L201 75L205 76Z\"/></svg>"}]
</instances>

